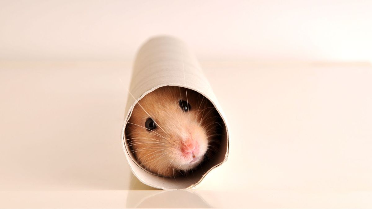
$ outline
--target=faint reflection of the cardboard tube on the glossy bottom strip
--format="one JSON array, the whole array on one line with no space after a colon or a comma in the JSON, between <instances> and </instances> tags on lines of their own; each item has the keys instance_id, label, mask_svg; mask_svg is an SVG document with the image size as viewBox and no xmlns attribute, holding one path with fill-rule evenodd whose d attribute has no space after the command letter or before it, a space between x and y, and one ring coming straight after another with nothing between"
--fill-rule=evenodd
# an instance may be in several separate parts
<instances>
[{"instance_id":1,"label":"faint reflection of the cardboard tube on the glossy bottom strip","mask_svg":"<svg viewBox=\"0 0 372 209\"><path fill-rule=\"evenodd\" d=\"M126 208L211 208L196 192L175 191L128 191Z\"/></svg>"}]
</instances>

